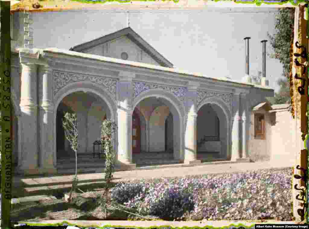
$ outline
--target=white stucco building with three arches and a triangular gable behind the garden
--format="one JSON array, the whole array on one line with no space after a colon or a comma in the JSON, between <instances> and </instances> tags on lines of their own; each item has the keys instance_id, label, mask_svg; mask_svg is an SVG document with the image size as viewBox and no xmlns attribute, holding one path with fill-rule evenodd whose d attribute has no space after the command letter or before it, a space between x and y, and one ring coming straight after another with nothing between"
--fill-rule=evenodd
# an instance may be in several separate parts
<instances>
[{"instance_id":1,"label":"white stucco building with three arches and a triangular gable behind the garden","mask_svg":"<svg viewBox=\"0 0 309 229\"><path fill-rule=\"evenodd\" d=\"M70 50L35 49L31 13L15 13L12 19L16 172L57 173L74 160L61 126L65 112L78 116L78 155L92 160L84 167L100 161L93 159L93 142L105 118L118 125L117 169L134 169L147 155L189 164L249 162L258 148L254 144L264 144L256 138L270 141L270 132L263 131L268 113L264 118L254 113L272 109L261 103L274 91L265 74L260 85L251 83L249 58L241 82L185 72L174 69L130 27ZM249 57L249 39L245 42ZM265 154L271 152L268 147Z\"/></svg>"}]
</instances>

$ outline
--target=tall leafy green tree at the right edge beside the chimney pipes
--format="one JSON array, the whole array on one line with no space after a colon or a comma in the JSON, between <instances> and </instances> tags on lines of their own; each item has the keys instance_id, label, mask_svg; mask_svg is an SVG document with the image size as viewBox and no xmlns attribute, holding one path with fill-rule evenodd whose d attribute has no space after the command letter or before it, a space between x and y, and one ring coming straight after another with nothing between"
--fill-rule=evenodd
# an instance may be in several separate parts
<instances>
[{"instance_id":1,"label":"tall leafy green tree at the right edge beside the chimney pipes","mask_svg":"<svg viewBox=\"0 0 309 229\"><path fill-rule=\"evenodd\" d=\"M283 65L282 76L277 80L280 86L274 98L269 98L272 104L291 103L290 99L290 47L294 35L294 8L281 8L276 15L275 29L277 33L268 33L274 53L268 53L271 58L278 59Z\"/></svg>"}]
</instances>

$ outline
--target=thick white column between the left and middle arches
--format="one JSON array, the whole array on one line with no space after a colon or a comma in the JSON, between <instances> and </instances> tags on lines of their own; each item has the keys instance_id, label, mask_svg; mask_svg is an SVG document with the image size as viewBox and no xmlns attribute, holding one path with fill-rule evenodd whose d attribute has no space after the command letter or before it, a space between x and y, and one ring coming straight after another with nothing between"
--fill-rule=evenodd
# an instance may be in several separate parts
<instances>
[{"instance_id":1,"label":"thick white column between the left and middle arches","mask_svg":"<svg viewBox=\"0 0 309 229\"><path fill-rule=\"evenodd\" d=\"M118 121L118 164L120 167L134 169L132 163L132 78L130 72L121 72L118 82L119 105L117 110Z\"/></svg>"}]
</instances>

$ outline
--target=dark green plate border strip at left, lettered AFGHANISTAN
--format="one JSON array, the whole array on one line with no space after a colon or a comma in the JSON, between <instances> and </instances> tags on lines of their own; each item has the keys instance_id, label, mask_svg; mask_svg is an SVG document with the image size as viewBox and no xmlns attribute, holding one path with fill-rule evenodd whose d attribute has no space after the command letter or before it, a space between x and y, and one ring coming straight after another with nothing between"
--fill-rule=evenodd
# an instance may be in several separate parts
<instances>
[{"instance_id":1,"label":"dark green plate border strip at left, lettered AFGHANISTAN","mask_svg":"<svg viewBox=\"0 0 309 229\"><path fill-rule=\"evenodd\" d=\"M0 124L1 124L1 227L11 228L11 198L12 198L12 142L11 142L11 2L1 1L1 88L0 88ZM6 82L4 82L7 80ZM6 91L3 87L6 86ZM9 89L9 91L7 91ZM4 98L6 100L4 101ZM7 99L8 98L8 99ZM6 102L6 106L4 105ZM9 106L7 106L9 105ZM4 116L9 117L9 120L4 119ZM6 131L3 131L3 130ZM6 151L5 148L9 150ZM6 156L8 158L6 158ZM9 160L11 159L11 160ZM9 180L6 182L6 175ZM9 187L6 187L9 186ZM6 191L4 192L4 188ZM8 189L8 190L7 190ZM6 197L8 195L8 197Z\"/></svg>"}]
</instances>

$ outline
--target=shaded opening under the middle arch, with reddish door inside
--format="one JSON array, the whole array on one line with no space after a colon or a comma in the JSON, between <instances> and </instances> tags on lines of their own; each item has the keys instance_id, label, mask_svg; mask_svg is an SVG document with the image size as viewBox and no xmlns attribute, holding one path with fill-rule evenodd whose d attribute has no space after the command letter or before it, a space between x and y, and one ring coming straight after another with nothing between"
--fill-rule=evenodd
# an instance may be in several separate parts
<instances>
[{"instance_id":1,"label":"shaded opening under the middle arch, with reddish door inside","mask_svg":"<svg viewBox=\"0 0 309 229\"><path fill-rule=\"evenodd\" d=\"M180 125L180 115L167 99L157 96L142 99L132 116L133 161L137 164L147 159L149 163L179 163Z\"/></svg>"}]
</instances>

